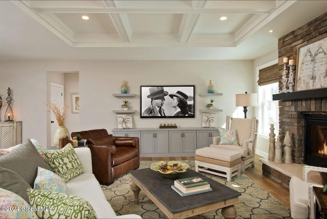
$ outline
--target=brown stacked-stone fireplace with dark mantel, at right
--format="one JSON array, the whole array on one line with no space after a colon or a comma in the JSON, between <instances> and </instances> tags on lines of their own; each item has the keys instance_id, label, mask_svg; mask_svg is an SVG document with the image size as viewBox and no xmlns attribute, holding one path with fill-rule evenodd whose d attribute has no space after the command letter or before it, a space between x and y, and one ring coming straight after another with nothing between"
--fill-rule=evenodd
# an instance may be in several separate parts
<instances>
[{"instance_id":1,"label":"brown stacked-stone fireplace with dark mantel, at right","mask_svg":"<svg viewBox=\"0 0 327 219\"><path fill-rule=\"evenodd\" d=\"M293 66L296 75L297 51L300 47L308 43L326 37L327 34L327 12L313 19L308 24L297 28L287 35L278 39L278 81L279 91L283 90L282 75L284 71L283 58L294 59ZM295 77L293 78L294 81ZM296 164L304 164L307 160L305 148L307 144L316 144L317 142L305 142L306 118L310 115L327 115L327 89L317 89L309 91L295 91L291 93L281 93L273 95L273 100L279 100L279 132L281 140L287 131L292 139L292 160ZM259 121L260 122L260 121ZM269 127L267 127L269 128ZM325 133L323 130L314 130L314 132ZM317 135L317 134L316 134ZM319 134L320 135L320 134ZM325 134L324 134L325 135ZM319 143L320 144L320 143ZM320 148L320 146L319 146ZM314 148L317 149L317 148ZM313 151L313 149L310 149ZM316 154L314 152L314 154ZM316 156L319 157L319 156ZM322 156L323 158L327 156ZM321 161L324 162L324 161ZM273 162L272 162L273 163ZM284 164L283 164L284 165ZM271 179L288 187L290 176L286 175L273 167L263 164L263 174Z\"/></svg>"}]
</instances>

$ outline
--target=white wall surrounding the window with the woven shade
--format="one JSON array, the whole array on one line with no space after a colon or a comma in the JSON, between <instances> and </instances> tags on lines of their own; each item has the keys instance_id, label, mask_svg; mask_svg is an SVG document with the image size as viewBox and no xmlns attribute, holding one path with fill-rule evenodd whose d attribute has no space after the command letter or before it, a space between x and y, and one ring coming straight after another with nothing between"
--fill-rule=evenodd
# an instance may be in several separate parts
<instances>
[{"instance_id":1,"label":"white wall surrounding the window with the woven shade","mask_svg":"<svg viewBox=\"0 0 327 219\"><path fill-rule=\"evenodd\" d=\"M259 70L269 67L272 64L278 63L278 50L273 50L264 56L261 56L253 61L253 72L255 81L259 79ZM258 84L254 84L255 91L258 93ZM260 121L259 121L260 122ZM267 127L269 129L270 127ZM258 136L256 140L255 154L268 158L269 152L269 137Z\"/></svg>"}]
</instances>

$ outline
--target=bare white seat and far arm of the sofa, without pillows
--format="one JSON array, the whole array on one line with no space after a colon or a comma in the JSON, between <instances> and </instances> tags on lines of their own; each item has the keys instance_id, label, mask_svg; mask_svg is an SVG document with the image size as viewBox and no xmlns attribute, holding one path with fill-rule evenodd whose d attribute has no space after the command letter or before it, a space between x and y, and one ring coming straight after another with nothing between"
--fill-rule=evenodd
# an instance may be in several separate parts
<instances>
[{"instance_id":1,"label":"bare white seat and far arm of the sofa, without pillows","mask_svg":"<svg viewBox=\"0 0 327 219\"><path fill-rule=\"evenodd\" d=\"M78 159L83 165L84 173L66 182L68 193L79 196L90 203L98 218L142 218L136 214L117 216L92 173L91 151L88 147L75 148Z\"/></svg>"}]
</instances>

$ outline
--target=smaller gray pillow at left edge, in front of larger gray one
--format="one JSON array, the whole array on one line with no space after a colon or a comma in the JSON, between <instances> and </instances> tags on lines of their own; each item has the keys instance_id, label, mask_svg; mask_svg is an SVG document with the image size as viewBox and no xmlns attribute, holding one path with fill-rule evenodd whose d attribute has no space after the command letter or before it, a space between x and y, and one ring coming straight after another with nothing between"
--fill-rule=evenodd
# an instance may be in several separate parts
<instances>
[{"instance_id":1,"label":"smaller gray pillow at left edge, in front of larger gray one","mask_svg":"<svg viewBox=\"0 0 327 219\"><path fill-rule=\"evenodd\" d=\"M30 203L26 190L32 187L17 172L0 167L0 188L12 191Z\"/></svg>"}]
</instances>

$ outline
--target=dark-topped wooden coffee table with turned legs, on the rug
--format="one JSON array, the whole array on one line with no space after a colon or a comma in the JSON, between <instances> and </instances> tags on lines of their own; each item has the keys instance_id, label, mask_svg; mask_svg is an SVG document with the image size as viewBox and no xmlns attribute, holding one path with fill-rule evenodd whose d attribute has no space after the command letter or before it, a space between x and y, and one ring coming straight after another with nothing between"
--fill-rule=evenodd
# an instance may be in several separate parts
<instances>
[{"instance_id":1,"label":"dark-topped wooden coffee table with turned legs, on the rug","mask_svg":"<svg viewBox=\"0 0 327 219\"><path fill-rule=\"evenodd\" d=\"M171 188L174 180L165 179L150 168L131 170L130 173L135 204L138 204L138 193L142 190L168 218L191 217L217 209L222 209L225 218L237 216L234 204L239 203L241 193L194 170L188 169L178 178L201 177L210 184L212 191L182 197Z\"/></svg>"}]
</instances>

